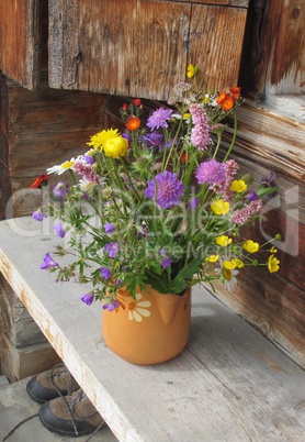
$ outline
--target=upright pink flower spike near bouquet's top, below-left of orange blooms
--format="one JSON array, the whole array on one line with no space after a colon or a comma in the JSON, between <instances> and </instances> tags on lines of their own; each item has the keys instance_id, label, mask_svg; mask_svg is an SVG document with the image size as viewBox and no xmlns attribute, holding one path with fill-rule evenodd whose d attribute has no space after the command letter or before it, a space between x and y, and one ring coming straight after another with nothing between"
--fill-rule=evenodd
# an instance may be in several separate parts
<instances>
[{"instance_id":1,"label":"upright pink flower spike near bouquet's top, below-left of orange blooms","mask_svg":"<svg viewBox=\"0 0 305 442\"><path fill-rule=\"evenodd\" d=\"M210 144L210 125L206 110L201 104L191 104L190 112L193 120L191 142L199 151L206 151Z\"/></svg>"}]
</instances>

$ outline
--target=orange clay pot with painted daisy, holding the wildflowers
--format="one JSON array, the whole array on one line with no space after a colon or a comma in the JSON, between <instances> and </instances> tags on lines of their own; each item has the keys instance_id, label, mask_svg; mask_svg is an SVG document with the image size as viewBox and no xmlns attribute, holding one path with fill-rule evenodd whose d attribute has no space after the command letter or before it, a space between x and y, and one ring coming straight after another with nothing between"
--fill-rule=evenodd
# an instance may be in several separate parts
<instances>
[{"instance_id":1,"label":"orange clay pot with painted daisy, holding the wildflowers","mask_svg":"<svg viewBox=\"0 0 305 442\"><path fill-rule=\"evenodd\" d=\"M117 290L120 307L102 313L105 344L123 360L139 365L159 364L181 353L191 323L191 289L178 296L146 288L136 292L136 299Z\"/></svg>"}]
</instances>

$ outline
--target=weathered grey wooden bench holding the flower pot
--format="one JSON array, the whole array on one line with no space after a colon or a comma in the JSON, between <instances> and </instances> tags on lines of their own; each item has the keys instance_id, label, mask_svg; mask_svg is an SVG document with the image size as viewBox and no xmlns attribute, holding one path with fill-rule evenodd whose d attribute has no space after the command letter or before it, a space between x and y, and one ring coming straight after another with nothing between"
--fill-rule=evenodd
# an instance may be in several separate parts
<instances>
[{"instance_id":1,"label":"weathered grey wooden bench holding the flower pot","mask_svg":"<svg viewBox=\"0 0 305 442\"><path fill-rule=\"evenodd\" d=\"M0 270L120 441L305 441L304 371L202 287L181 355L156 366L114 355L101 305L39 269L58 242L49 230L1 221Z\"/></svg>"}]
</instances>

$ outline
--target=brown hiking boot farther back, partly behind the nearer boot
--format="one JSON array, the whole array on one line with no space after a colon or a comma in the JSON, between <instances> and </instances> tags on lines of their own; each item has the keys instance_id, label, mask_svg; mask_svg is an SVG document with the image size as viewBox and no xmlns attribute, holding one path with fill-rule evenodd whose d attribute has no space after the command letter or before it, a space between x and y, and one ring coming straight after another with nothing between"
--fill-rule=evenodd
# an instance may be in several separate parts
<instances>
[{"instance_id":1,"label":"brown hiking boot farther back, partly behind the nearer boot","mask_svg":"<svg viewBox=\"0 0 305 442\"><path fill-rule=\"evenodd\" d=\"M57 364L52 369L39 373L26 384L29 396L38 404L70 395L77 389L79 385L64 364Z\"/></svg>"}]
</instances>

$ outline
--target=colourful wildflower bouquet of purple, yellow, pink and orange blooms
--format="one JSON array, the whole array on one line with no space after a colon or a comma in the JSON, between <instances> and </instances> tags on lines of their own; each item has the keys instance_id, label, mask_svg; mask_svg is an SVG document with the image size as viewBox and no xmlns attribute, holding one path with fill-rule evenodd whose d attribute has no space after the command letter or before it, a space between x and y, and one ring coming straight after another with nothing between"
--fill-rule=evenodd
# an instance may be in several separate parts
<instances>
[{"instance_id":1,"label":"colourful wildflower bouquet of purple, yellow, pink and orange blooms","mask_svg":"<svg viewBox=\"0 0 305 442\"><path fill-rule=\"evenodd\" d=\"M41 266L57 273L57 280L89 284L82 301L104 300L112 310L116 290L149 284L161 294L182 295L201 281L234 284L247 265L279 269L269 243L240 237L240 228L260 217L262 197L274 188L238 175L229 158L236 131L240 90L221 93L195 87L197 68L189 67L189 82L173 88L168 106L143 121L143 103L125 103L125 130L102 130L91 136L87 152L47 169L68 172L70 184L59 181L54 201L34 212L55 220L67 255L59 265L47 253ZM193 78L192 78L193 77ZM231 143L222 161L218 151L233 117ZM256 258L264 251L263 261ZM260 253L261 256L261 253ZM65 259L66 261L66 259Z\"/></svg>"}]
</instances>

